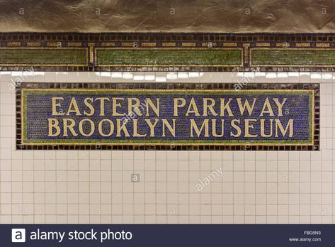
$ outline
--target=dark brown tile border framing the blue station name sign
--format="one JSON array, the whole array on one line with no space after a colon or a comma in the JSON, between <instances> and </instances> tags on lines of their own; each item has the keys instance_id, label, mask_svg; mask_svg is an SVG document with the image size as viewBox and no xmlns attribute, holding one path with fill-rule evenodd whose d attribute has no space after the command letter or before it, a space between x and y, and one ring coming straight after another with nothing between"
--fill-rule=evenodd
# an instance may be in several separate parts
<instances>
[{"instance_id":1,"label":"dark brown tile border framing the blue station name sign","mask_svg":"<svg viewBox=\"0 0 335 247\"><path fill-rule=\"evenodd\" d=\"M23 83L16 88L16 148L18 150L319 150L320 92L319 84L246 84L244 89L314 89L314 146L64 146L21 144L21 89L234 89L233 83Z\"/></svg>"}]
</instances>

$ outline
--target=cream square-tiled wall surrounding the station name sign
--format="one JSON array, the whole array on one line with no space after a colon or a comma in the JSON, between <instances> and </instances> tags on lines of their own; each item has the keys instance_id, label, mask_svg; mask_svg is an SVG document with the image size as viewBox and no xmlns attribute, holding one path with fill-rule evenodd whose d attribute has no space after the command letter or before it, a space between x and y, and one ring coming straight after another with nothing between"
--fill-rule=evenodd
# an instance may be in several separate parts
<instances>
[{"instance_id":1,"label":"cream square-tiled wall surrounding the station name sign","mask_svg":"<svg viewBox=\"0 0 335 247\"><path fill-rule=\"evenodd\" d=\"M321 83L321 151L15 150L21 72L0 72L0 223L334 223L335 74L259 73ZM13 77L12 77L13 76ZM244 73L35 72L31 82L237 82ZM198 192L199 179L223 170ZM131 182L132 174L140 182Z\"/></svg>"}]
</instances>

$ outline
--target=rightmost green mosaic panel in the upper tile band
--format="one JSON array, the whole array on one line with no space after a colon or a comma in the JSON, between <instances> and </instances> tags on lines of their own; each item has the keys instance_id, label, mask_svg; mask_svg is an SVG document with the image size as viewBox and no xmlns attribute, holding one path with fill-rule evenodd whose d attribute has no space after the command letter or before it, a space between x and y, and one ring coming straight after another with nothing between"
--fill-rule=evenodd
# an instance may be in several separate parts
<instances>
[{"instance_id":1,"label":"rightmost green mosaic panel in the upper tile band","mask_svg":"<svg viewBox=\"0 0 335 247\"><path fill-rule=\"evenodd\" d=\"M335 66L334 49L317 48L254 48L251 66Z\"/></svg>"}]
</instances>

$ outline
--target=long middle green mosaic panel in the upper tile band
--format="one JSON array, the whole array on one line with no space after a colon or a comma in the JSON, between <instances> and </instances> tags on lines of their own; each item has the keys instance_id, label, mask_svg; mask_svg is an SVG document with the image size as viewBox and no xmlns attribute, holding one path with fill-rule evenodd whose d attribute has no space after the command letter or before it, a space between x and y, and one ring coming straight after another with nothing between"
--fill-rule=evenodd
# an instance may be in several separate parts
<instances>
[{"instance_id":1,"label":"long middle green mosaic panel in the upper tile band","mask_svg":"<svg viewBox=\"0 0 335 247\"><path fill-rule=\"evenodd\" d=\"M242 49L96 49L97 65L242 66Z\"/></svg>"}]
</instances>

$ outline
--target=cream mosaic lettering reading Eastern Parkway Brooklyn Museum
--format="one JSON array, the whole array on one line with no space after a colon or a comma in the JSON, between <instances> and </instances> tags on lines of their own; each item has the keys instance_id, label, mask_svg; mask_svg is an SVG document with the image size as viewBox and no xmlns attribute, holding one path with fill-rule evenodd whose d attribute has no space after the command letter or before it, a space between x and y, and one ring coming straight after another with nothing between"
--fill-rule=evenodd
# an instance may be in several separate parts
<instances>
[{"instance_id":1,"label":"cream mosaic lettering reading Eastern Parkway Brooklyn Museum","mask_svg":"<svg viewBox=\"0 0 335 247\"><path fill-rule=\"evenodd\" d=\"M48 136L164 138L188 133L189 138L290 138L295 135L295 119L285 108L288 101L287 97L171 97L162 105L159 97L50 97Z\"/></svg>"}]
</instances>

